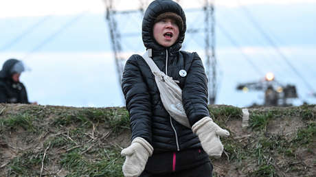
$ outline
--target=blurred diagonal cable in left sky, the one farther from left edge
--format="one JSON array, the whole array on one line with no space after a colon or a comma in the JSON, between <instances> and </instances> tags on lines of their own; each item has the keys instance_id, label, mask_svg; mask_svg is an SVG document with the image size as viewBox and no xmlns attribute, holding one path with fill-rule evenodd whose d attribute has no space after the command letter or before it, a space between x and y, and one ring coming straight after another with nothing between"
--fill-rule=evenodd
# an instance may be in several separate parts
<instances>
[{"instance_id":1,"label":"blurred diagonal cable in left sky, the one farther from left edge","mask_svg":"<svg viewBox=\"0 0 316 177\"><path fill-rule=\"evenodd\" d=\"M67 29L67 27L71 26L73 23L75 23L76 21L78 21L82 16L84 16L86 12L82 12L81 14L78 14L77 16L75 16L73 19L71 19L70 21L68 21L65 25L63 25L62 27L60 27L56 32L54 32L53 34L49 35L47 38L45 38L41 43L39 43L38 45L36 45L36 47L34 47L31 51L29 51L22 60L25 60L27 57L30 57L35 51L38 51L39 49L41 49L41 47L43 47L44 45L46 45L47 43L49 43L51 40L53 40L54 38L56 38L56 36L58 36L61 32L63 32L65 29Z\"/></svg>"}]
</instances>

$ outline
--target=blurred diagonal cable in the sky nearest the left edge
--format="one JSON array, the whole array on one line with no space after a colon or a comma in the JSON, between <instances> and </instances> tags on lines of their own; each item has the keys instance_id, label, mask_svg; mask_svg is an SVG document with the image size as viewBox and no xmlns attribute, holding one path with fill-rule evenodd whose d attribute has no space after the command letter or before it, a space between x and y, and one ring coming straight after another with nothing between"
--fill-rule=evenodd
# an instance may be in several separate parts
<instances>
[{"instance_id":1,"label":"blurred diagonal cable in the sky nearest the left edge","mask_svg":"<svg viewBox=\"0 0 316 177\"><path fill-rule=\"evenodd\" d=\"M27 36L28 34L33 32L36 27L42 25L45 21L47 21L47 19L49 19L50 17L52 17L52 16L51 15L44 16L37 23L35 23L34 25L28 27L22 34L20 34L19 36L16 36L16 38L14 38L13 40L9 41L8 43L5 43L5 45L0 47L0 51L5 51L6 49L9 49L10 47L12 47L12 45L18 43L25 36Z\"/></svg>"}]
</instances>

